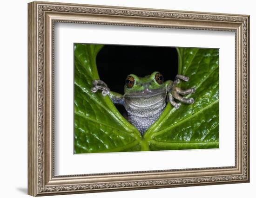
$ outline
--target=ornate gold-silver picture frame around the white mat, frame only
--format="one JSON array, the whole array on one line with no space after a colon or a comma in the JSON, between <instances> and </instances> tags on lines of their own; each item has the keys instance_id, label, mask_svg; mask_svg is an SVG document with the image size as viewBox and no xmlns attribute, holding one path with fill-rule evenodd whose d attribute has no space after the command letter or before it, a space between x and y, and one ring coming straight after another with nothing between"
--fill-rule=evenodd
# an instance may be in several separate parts
<instances>
[{"instance_id":1,"label":"ornate gold-silver picture frame around the white mat, frame only","mask_svg":"<svg viewBox=\"0 0 256 198\"><path fill-rule=\"evenodd\" d=\"M54 22L236 33L235 166L54 176ZM28 4L28 194L249 182L249 16L52 2Z\"/></svg>"}]
</instances>

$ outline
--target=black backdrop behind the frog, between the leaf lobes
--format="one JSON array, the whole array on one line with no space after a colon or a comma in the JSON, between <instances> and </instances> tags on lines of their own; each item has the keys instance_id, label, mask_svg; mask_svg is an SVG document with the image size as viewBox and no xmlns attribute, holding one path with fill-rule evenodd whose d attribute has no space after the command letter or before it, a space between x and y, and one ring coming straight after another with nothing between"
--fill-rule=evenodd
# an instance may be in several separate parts
<instances>
[{"instance_id":1,"label":"black backdrop behind the frog, between the leaf lobes","mask_svg":"<svg viewBox=\"0 0 256 198\"><path fill-rule=\"evenodd\" d=\"M138 77L159 71L164 81L174 80L178 73L178 54L175 47L104 45L96 57L100 79L111 91L124 94L125 79L129 74ZM117 109L125 114L123 106Z\"/></svg>"}]
</instances>

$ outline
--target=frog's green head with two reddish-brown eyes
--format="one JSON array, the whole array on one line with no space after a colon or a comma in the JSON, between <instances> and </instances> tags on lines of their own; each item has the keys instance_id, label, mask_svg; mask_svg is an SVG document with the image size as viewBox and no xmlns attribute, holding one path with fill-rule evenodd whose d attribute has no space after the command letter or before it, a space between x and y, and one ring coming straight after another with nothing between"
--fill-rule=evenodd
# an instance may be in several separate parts
<instances>
[{"instance_id":1,"label":"frog's green head with two reddish-brown eyes","mask_svg":"<svg viewBox=\"0 0 256 198\"><path fill-rule=\"evenodd\" d=\"M134 74L130 74L125 80L125 96L150 97L165 92L163 76L158 71L145 77L137 77Z\"/></svg>"}]
</instances>

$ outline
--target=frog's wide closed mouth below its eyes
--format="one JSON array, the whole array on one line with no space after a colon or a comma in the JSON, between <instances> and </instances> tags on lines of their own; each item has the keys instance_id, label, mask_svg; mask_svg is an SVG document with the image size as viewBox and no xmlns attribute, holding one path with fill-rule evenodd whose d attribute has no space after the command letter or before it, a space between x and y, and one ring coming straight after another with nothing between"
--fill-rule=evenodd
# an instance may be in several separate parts
<instances>
[{"instance_id":1,"label":"frog's wide closed mouth below its eyes","mask_svg":"<svg viewBox=\"0 0 256 198\"><path fill-rule=\"evenodd\" d=\"M144 89L143 91L135 91L132 93L125 94L124 96L127 98L149 98L159 96L162 94L166 94L165 89Z\"/></svg>"}]
</instances>

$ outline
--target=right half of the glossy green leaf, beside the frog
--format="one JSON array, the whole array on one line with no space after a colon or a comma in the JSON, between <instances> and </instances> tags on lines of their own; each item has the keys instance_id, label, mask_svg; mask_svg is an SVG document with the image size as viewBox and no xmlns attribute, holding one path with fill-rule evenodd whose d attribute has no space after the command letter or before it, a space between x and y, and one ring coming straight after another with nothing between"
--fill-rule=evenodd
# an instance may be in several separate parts
<instances>
[{"instance_id":1,"label":"right half of the glossy green leaf, beside the frog","mask_svg":"<svg viewBox=\"0 0 256 198\"><path fill-rule=\"evenodd\" d=\"M144 134L149 150L219 147L219 63L217 49L177 48L179 74L189 77L182 89L195 87L193 104L169 103Z\"/></svg>"}]
</instances>

